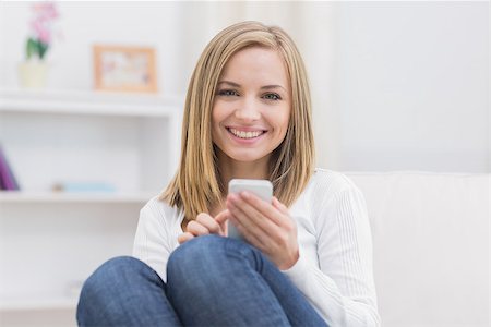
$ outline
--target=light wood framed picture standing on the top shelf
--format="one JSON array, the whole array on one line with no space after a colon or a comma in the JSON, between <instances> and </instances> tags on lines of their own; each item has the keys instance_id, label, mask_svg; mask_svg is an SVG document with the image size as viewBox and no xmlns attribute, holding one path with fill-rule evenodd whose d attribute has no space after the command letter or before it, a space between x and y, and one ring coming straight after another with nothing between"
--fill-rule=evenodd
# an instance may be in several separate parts
<instances>
[{"instance_id":1,"label":"light wood framed picture standing on the top shelf","mask_svg":"<svg viewBox=\"0 0 491 327\"><path fill-rule=\"evenodd\" d=\"M95 45L93 52L95 89L157 92L153 48Z\"/></svg>"}]
</instances>

